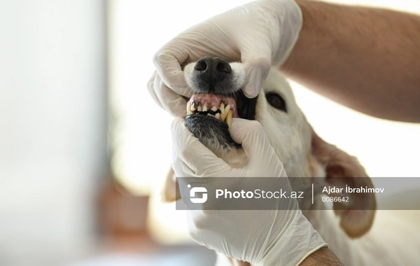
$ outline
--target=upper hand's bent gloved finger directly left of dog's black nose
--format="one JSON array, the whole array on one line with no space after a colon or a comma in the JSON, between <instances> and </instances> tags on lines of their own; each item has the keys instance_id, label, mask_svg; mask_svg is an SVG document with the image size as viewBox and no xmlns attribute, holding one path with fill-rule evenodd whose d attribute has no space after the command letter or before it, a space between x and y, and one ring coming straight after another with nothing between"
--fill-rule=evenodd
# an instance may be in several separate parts
<instances>
[{"instance_id":1,"label":"upper hand's bent gloved finger directly left of dog's black nose","mask_svg":"<svg viewBox=\"0 0 420 266\"><path fill-rule=\"evenodd\" d=\"M160 48L153 57L153 64L167 87L190 98L193 95L193 90L188 87L181 69L181 64L188 59L188 52L186 50L180 52L179 48L172 47L176 47L174 41Z\"/></svg>"}]
</instances>

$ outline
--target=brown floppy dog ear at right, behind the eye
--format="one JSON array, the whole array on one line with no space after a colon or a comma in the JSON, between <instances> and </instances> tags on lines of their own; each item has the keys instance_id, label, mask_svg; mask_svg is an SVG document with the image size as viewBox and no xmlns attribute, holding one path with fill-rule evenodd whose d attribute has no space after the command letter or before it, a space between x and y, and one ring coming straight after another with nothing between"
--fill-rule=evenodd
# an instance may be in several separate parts
<instances>
[{"instance_id":1,"label":"brown floppy dog ear at right, behind the eye","mask_svg":"<svg viewBox=\"0 0 420 266\"><path fill-rule=\"evenodd\" d=\"M373 188L371 179L355 157L323 141L314 131L311 142L311 155L318 167L323 168L326 186L343 188L344 192L346 186ZM347 193L342 196L349 197L349 202L334 202L335 214L341 218L340 226L349 237L361 237L370 230L374 220L374 193Z\"/></svg>"}]
</instances>

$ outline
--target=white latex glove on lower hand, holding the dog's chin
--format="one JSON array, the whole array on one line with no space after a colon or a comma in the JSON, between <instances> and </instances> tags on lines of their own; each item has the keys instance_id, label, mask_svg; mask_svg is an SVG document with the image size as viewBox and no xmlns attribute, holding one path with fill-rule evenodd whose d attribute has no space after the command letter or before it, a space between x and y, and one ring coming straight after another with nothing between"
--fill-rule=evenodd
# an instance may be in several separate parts
<instances>
[{"instance_id":1,"label":"white latex glove on lower hand, holding the dog's chin","mask_svg":"<svg viewBox=\"0 0 420 266\"><path fill-rule=\"evenodd\" d=\"M234 118L230 134L242 144L249 158L241 169L232 169L217 158L191 134L184 120L174 120L172 167L176 176L286 177L260 123ZM281 180L281 188L290 190L288 179ZM214 183L202 185L220 188ZM271 203L276 206L269 211L188 211L190 235L201 245L254 265L298 265L314 251L328 246L297 208L296 200Z\"/></svg>"}]
</instances>

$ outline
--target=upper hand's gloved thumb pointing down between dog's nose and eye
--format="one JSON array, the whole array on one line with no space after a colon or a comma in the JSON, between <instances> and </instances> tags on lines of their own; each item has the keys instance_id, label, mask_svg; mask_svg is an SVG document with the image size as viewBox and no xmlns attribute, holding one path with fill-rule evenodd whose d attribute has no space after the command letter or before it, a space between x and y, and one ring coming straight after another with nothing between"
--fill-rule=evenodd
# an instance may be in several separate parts
<instances>
[{"instance_id":1,"label":"upper hand's gloved thumb pointing down between dog's nose and eye","mask_svg":"<svg viewBox=\"0 0 420 266\"><path fill-rule=\"evenodd\" d=\"M255 48L255 50L261 50L264 48ZM271 48L267 48L271 49ZM247 50L254 51L254 48L250 48ZM244 64L244 69L246 72L246 76L248 77L248 80L246 82L246 85L242 89L245 96L249 99L255 98L260 93L260 90L262 89L262 85L264 85L265 78L267 78L269 69L271 68L271 55L267 53L267 55L258 55L258 57L255 57L254 54L251 54L251 52L242 52L241 54L241 61Z\"/></svg>"}]
</instances>

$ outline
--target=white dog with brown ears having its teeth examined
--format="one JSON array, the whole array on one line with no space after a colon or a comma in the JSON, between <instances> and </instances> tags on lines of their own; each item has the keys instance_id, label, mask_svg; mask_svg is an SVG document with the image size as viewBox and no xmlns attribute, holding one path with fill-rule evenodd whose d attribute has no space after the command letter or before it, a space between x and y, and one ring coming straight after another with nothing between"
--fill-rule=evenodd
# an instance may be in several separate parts
<instances>
[{"instance_id":1,"label":"white dog with brown ears having its teeth examined","mask_svg":"<svg viewBox=\"0 0 420 266\"><path fill-rule=\"evenodd\" d=\"M203 57L186 65L184 72L188 85L195 90L187 105L186 126L233 167L245 165L246 156L230 138L228 127L232 117L255 119L264 128L295 189L305 190L311 186L311 179L295 183L294 176L324 177L322 185L333 186L340 185L336 182L338 177L345 177L349 182L359 182L358 186L372 187L356 158L326 143L312 130L295 102L290 85L276 69L269 72L255 99L247 99L241 93L245 82L241 63ZM176 200L174 191L174 180L169 175L164 198ZM315 209L325 209L321 208L325 203L320 199L321 195L315 198ZM345 211L303 211L345 265L419 265L419 212L376 211L375 215L374 194L353 198L351 202L353 206ZM234 263L222 258L218 262Z\"/></svg>"}]
</instances>

